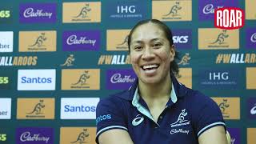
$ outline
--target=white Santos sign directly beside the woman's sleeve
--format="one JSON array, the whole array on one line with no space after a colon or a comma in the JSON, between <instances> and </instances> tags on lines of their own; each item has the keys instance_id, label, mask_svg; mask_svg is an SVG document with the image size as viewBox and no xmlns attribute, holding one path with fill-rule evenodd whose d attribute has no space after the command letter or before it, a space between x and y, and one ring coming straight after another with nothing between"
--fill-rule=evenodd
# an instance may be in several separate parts
<instances>
[{"instance_id":1,"label":"white Santos sign directly beside the woman's sleeve","mask_svg":"<svg viewBox=\"0 0 256 144\"><path fill-rule=\"evenodd\" d=\"M62 98L61 119L95 119L99 98Z\"/></svg>"}]
</instances>

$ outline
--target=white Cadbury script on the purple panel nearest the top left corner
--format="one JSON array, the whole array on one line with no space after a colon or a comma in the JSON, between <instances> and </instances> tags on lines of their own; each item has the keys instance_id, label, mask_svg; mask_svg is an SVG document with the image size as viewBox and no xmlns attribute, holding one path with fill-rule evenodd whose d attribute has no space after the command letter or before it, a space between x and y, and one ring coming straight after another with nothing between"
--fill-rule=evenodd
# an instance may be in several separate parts
<instances>
[{"instance_id":1,"label":"white Cadbury script on the purple panel nearest the top left corner","mask_svg":"<svg viewBox=\"0 0 256 144\"><path fill-rule=\"evenodd\" d=\"M44 12L43 10L34 10L33 8L27 8L23 15L25 18L33 18L33 17L48 17L51 18L53 13Z\"/></svg>"}]
</instances>

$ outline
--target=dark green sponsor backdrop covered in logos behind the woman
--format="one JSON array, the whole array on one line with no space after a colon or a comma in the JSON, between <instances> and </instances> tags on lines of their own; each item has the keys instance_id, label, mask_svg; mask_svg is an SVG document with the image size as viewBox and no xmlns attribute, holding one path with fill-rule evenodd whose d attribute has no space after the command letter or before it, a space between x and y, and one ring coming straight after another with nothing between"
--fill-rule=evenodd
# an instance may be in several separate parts
<instances>
[{"instance_id":1,"label":"dark green sponsor backdrop covered in logos behind the woman","mask_svg":"<svg viewBox=\"0 0 256 144\"><path fill-rule=\"evenodd\" d=\"M180 54L178 80L213 98L233 144L256 139L254 0L10 0L0 5L0 143L95 143L100 98L136 75L127 34L157 18ZM214 28L214 10L245 10L239 30Z\"/></svg>"}]
</instances>

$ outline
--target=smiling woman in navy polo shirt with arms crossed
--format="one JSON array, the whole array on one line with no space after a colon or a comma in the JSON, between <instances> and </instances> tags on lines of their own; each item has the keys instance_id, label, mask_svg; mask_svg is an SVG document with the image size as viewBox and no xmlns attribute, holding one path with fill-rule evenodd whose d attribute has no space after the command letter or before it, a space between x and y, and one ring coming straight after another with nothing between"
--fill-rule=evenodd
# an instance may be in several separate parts
<instances>
[{"instance_id":1,"label":"smiling woman in navy polo shirt with arms crossed","mask_svg":"<svg viewBox=\"0 0 256 144\"><path fill-rule=\"evenodd\" d=\"M168 26L138 22L128 37L130 63L138 78L129 90L101 99L96 142L226 144L218 105L177 81L177 52Z\"/></svg>"}]
</instances>

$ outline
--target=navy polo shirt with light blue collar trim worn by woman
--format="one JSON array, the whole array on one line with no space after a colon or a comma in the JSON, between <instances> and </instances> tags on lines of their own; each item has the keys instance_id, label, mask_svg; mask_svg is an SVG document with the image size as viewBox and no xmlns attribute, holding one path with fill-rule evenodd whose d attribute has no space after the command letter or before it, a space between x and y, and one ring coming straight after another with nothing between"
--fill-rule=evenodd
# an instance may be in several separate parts
<instances>
[{"instance_id":1,"label":"navy polo shirt with light blue collar trim worn by woman","mask_svg":"<svg viewBox=\"0 0 256 144\"><path fill-rule=\"evenodd\" d=\"M134 144L198 144L204 131L225 127L222 113L211 98L182 85L173 74L171 80L170 99L157 122L138 94L138 79L129 90L101 99L96 109L96 142L103 132L122 129Z\"/></svg>"}]
</instances>

